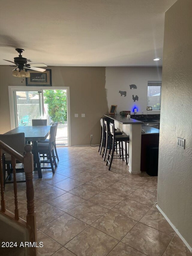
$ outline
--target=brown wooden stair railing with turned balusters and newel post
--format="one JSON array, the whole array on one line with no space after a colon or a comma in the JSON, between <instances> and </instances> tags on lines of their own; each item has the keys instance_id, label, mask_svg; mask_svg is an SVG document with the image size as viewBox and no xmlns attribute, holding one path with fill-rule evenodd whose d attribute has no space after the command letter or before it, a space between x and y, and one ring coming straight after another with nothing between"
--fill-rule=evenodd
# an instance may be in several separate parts
<instances>
[{"instance_id":1,"label":"brown wooden stair railing with turned balusters and newel post","mask_svg":"<svg viewBox=\"0 0 192 256\"><path fill-rule=\"evenodd\" d=\"M36 232L36 215L35 215L35 206L34 206L34 189L33 189L33 155L32 155L32 146L27 144L24 147L25 155L22 156L4 142L0 140L0 185L1 185L1 210L0 213L7 216L10 219L13 219L18 224L27 228L29 233L29 241L32 244L37 242L37 232ZM14 214L6 209L6 202L4 198L4 177L3 177L3 168L2 168L2 150L7 154L11 155L11 165L13 168L13 190L14 190L14 204L15 211ZM27 197L27 218L26 221L19 218L19 209L17 201L17 183L16 183L16 160L21 162L24 165L24 172L26 176L26 197ZM29 255L37 255L37 247L29 247Z\"/></svg>"}]
</instances>

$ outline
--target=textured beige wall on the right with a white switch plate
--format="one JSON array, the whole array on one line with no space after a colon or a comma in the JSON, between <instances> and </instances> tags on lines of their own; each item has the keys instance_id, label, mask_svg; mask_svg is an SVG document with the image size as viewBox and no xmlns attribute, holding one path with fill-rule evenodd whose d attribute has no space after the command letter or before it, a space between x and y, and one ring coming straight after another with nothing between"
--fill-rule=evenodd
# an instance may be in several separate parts
<instances>
[{"instance_id":1,"label":"textured beige wall on the right with a white switch plate","mask_svg":"<svg viewBox=\"0 0 192 256\"><path fill-rule=\"evenodd\" d=\"M165 15L158 206L192 247L192 1ZM177 137L186 140L183 150Z\"/></svg>"}]
</instances>

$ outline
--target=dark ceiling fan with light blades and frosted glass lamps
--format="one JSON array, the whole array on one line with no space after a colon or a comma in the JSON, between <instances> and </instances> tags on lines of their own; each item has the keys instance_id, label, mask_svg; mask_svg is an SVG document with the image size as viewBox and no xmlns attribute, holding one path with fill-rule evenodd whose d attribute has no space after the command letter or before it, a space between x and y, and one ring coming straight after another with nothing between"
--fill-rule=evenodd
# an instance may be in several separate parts
<instances>
[{"instance_id":1,"label":"dark ceiling fan with light blades and frosted glass lamps","mask_svg":"<svg viewBox=\"0 0 192 256\"><path fill-rule=\"evenodd\" d=\"M15 49L19 53L19 57L14 58L14 62L4 59L5 61L11 62L14 65L11 65L11 67L16 67L13 69L13 76L14 77L30 77L30 73L28 71L25 71L26 69L31 69L39 72L44 72L46 69L44 68L38 68L38 67L47 67L44 63L27 63L27 59L23 58L21 53L24 51L23 49L16 48ZM17 70L19 69L19 70Z\"/></svg>"}]
</instances>

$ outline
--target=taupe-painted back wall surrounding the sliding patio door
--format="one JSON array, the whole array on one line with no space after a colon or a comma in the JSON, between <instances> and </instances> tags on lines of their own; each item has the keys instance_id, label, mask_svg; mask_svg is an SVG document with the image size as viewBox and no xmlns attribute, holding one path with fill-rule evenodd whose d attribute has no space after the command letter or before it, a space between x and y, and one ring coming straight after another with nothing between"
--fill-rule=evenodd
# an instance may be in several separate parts
<instances>
[{"instance_id":1,"label":"taupe-painted back wall surrounding the sliding patio door","mask_svg":"<svg viewBox=\"0 0 192 256\"><path fill-rule=\"evenodd\" d=\"M108 112L105 91L105 68L48 67L52 70L52 86L70 87L71 146L100 142L100 121ZM0 133L10 130L8 86L25 86L12 76L9 66L0 66ZM75 118L74 114L79 117ZM85 113L85 118L81 114Z\"/></svg>"}]
</instances>

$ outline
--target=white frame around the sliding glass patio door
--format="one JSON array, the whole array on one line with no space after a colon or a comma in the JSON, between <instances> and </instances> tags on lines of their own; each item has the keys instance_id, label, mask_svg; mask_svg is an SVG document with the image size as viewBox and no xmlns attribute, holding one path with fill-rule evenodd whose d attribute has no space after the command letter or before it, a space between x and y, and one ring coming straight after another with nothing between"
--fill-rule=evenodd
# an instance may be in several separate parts
<instances>
[{"instance_id":1,"label":"white frame around the sliding glass patio door","mask_svg":"<svg viewBox=\"0 0 192 256\"><path fill-rule=\"evenodd\" d=\"M16 128L15 106L14 106L14 104L15 104L14 94L15 93L14 92L16 92L16 91L43 91L43 90L66 90L66 92L67 92L67 136L68 136L67 138L68 138L68 146L70 146L71 145L71 133L70 133L71 129L70 129L70 92L69 92L69 87L8 86L11 130Z\"/></svg>"}]
</instances>

